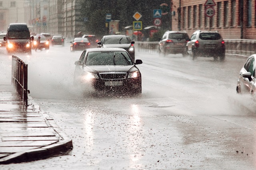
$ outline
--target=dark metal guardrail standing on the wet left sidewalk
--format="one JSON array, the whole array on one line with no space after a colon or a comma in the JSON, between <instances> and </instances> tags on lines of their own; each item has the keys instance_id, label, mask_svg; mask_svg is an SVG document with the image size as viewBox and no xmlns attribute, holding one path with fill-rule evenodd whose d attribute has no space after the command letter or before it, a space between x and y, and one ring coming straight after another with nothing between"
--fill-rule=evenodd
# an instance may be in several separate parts
<instances>
[{"instance_id":1,"label":"dark metal guardrail standing on the wet left sidewalk","mask_svg":"<svg viewBox=\"0 0 256 170\"><path fill-rule=\"evenodd\" d=\"M28 106L28 64L12 55L12 85L20 94L23 105Z\"/></svg>"}]
</instances>

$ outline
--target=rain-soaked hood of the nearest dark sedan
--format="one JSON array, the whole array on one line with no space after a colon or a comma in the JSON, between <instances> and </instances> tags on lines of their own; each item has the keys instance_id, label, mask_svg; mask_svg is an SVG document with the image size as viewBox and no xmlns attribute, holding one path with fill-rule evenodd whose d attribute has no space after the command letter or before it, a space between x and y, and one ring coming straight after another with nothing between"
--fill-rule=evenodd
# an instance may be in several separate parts
<instances>
[{"instance_id":1,"label":"rain-soaked hood of the nearest dark sedan","mask_svg":"<svg viewBox=\"0 0 256 170\"><path fill-rule=\"evenodd\" d=\"M129 72L132 69L138 70L134 65L101 65L87 66L88 71L93 72Z\"/></svg>"}]
</instances>

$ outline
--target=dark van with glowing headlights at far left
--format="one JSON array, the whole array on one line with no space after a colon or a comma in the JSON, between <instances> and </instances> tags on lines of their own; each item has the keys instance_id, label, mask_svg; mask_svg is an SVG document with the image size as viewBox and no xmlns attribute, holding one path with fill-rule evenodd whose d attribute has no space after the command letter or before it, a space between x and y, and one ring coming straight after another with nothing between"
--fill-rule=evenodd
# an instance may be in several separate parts
<instances>
[{"instance_id":1,"label":"dark van with glowing headlights at far left","mask_svg":"<svg viewBox=\"0 0 256 170\"><path fill-rule=\"evenodd\" d=\"M31 54L30 32L26 23L10 23L4 41L6 43L7 53L24 52Z\"/></svg>"}]
</instances>

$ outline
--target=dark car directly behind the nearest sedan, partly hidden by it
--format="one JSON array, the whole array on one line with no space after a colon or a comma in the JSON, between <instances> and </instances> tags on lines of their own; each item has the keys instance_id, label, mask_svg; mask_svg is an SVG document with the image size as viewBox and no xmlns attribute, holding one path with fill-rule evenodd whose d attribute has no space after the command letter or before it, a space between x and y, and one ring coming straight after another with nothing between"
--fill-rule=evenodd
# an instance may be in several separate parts
<instances>
[{"instance_id":1,"label":"dark car directly behind the nearest sedan, partly hidden by it","mask_svg":"<svg viewBox=\"0 0 256 170\"><path fill-rule=\"evenodd\" d=\"M130 55L132 61L135 61L134 41L126 35L104 35L98 47L101 48L122 48Z\"/></svg>"}]
</instances>

